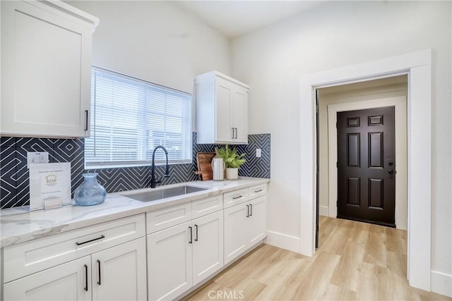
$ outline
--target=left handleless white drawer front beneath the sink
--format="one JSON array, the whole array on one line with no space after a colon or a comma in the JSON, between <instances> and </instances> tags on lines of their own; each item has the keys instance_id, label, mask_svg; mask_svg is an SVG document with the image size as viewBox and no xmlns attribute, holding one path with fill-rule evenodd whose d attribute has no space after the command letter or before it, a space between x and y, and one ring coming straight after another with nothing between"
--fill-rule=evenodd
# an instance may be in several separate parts
<instances>
[{"instance_id":1,"label":"left handleless white drawer front beneath the sink","mask_svg":"<svg viewBox=\"0 0 452 301\"><path fill-rule=\"evenodd\" d=\"M191 202L146 212L148 234L191 220Z\"/></svg>"}]
</instances>

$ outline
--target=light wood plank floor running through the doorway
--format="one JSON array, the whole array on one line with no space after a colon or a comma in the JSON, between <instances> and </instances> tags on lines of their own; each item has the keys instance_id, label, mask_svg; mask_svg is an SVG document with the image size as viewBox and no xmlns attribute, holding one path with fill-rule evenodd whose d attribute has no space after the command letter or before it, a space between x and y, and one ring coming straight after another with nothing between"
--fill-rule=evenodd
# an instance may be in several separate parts
<instances>
[{"instance_id":1,"label":"light wood plank floor running through the doorway","mask_svg":"<svg viewBox=\"0 0 452 301\"><path fill-rule=\"evenodd\" d=\"M185 299L452 300L408 285L406 231L321 216L319 235L314 257L262 245Z\"/></svg>"}]
</instances>

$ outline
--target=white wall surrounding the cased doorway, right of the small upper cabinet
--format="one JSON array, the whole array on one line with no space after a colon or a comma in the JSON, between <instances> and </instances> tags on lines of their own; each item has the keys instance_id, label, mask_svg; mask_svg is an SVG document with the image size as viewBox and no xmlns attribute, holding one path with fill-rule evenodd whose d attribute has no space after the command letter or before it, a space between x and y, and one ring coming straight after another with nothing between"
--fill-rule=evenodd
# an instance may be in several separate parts
<instances>
[{"instance_id":1,"label":"white wall surrounding the cased doorway, right of the small upper cabinet","mask_svg":"<svg viewBox=\"0 0 452 301\"><path fill-rule=\"evenodd\" d=\"M232 41L251 133L271 134L268 228L299 237L299 77L433 49L432 269L452 274L451 2L333 1Z\"/></svg>"}]
</instances>

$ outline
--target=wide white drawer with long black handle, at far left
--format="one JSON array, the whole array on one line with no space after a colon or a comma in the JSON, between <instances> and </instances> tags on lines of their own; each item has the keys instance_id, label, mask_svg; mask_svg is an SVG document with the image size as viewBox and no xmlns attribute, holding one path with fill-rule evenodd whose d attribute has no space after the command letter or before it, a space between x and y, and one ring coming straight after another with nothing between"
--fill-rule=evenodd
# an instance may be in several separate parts
<instances>
[{"instance_id":1,"label":"wide white drawer with long black handle, at far left","mask_svg":"<svg viewBox=\"0 0 452 301\"><path fill-rule=\"evenodd\" d=\"M145 235L144 214L4 248L4 283Z\"/></svg>"}]
</instances>

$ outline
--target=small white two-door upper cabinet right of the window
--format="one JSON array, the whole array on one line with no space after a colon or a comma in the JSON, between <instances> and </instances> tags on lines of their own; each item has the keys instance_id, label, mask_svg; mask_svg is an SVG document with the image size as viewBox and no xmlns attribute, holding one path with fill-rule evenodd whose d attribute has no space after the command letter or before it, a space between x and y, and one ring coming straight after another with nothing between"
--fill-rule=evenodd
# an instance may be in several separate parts
<instances>
[{"instance_id":1,"label":"small white two-door upper cabinet right of the window","mask_svg":"<svg viewBox=\"0 0 452 301\"><path fill-rule=\"evenodd\" d=\"M198 143L248 143L249 86L212 71L196 77Z\"/></svg>"}]
</instances>

